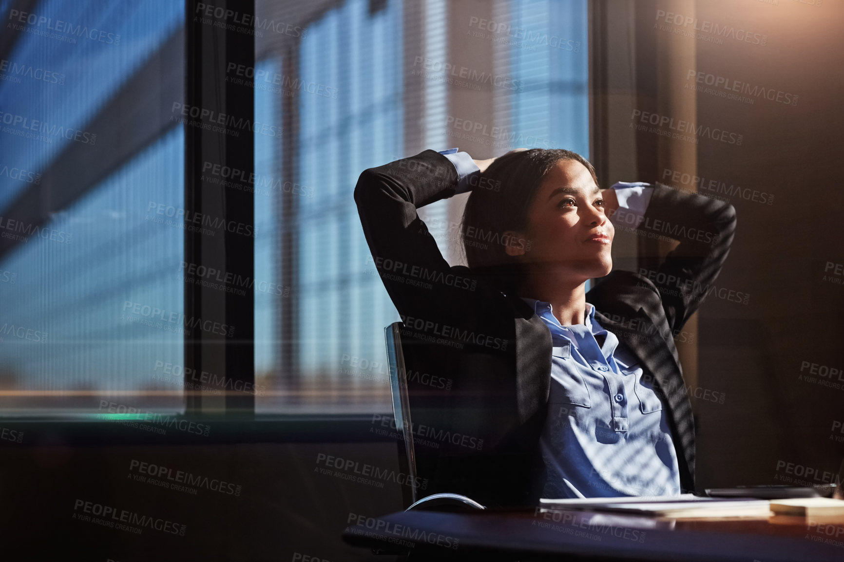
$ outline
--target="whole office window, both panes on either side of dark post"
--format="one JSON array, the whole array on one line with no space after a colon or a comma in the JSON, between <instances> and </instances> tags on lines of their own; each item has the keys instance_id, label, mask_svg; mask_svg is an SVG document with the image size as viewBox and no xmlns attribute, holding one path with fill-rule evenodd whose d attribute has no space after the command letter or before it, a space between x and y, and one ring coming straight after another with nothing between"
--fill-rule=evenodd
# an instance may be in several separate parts
<instances>
[{"instance_id":1,"label":"whole office window, both panes on either side of dark post","mask_svg":"<svg viewBox=\"0 0 844 562\"><path fill-rule=\"evenodd\" d=\"M14 32L0 52L3 415L102 413L104 403L251 413L252 397L218 399L230 380L254 381L257 413L388 409L383 329L398 314L360 230L360 172L455 146L476 158L521 146L588 155L582 0L477 13L446 0L258 0L255 33L241 34L254 37L254 61L232 66L226 51L219 84L192 79L207 62L192 35L198 58L185 51L187 24L210 34L217 16L188 20L165 0L47 1L35 17L14 6L0 4ZM254 181L225 176L230 159L252 161L251 143L241 135L225 149L236 156L215 152L187 107L190 88L214 105L228 103L214 100L218 88L235 86L254 95L254 170L239 166ZM197 164L212 168L193 182ZM242 213L245 185L252 240L188 235L191 209L225 224ZM464 259L454 235L464 203L420 211L452 263ZM254 255L254 269L238 254ZM230 295L239 281L211 286L217 264L246 279L254 304ZM254 336L238 323L234 336L192 343L194 321L252 320L237 311L253 309ZM219 381L187 376L197 365Z\"/></svg>"}]
</instances>

